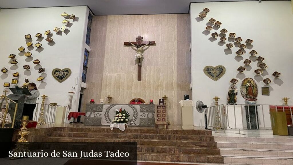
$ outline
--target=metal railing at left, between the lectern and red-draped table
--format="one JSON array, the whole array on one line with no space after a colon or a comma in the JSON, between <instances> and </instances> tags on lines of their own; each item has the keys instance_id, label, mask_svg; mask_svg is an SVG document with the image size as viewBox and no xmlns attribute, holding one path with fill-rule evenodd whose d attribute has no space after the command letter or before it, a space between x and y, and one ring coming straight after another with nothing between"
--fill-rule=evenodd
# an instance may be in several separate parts
<instances>
[{"instance_id":1,"label":"metal railing at left, between the lectern and red-draped table","mask_svg":"<svg viewBox=\"0 0 293 165\"><path fill-rule=\"evenodd\" d=\"M56 115L56 110L57 107L66 107L62 105L51 105L51 104L44 104L44 118L46 123L54 123L55 122L55 115ZM42 104L37 103L36 108L34 111L33 115L33 120L38 121L40 117L40 112L41 112ZM68 108L66 107L66 115L64 117L64 122L67 121L67 115L68 115Z\"/></svg>"}]
</instances>

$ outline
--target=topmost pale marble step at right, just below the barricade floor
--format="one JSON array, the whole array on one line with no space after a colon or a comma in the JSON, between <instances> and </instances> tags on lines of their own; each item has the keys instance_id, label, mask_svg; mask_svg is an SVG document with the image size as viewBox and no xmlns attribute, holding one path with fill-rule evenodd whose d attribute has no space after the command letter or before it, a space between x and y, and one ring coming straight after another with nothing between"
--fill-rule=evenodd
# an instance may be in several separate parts
<instances>
[{"instance_id":1,"label":"topmost pale marble step at right, just below the barricade floor","mask_svg":"<svg viewBox=\"0 0 293 165\"><path fill-rule=\"evenodd\" d=\"M293 138L262 138L262 137L214 137L216 142L264 142L293 143Z\"/></svg>"}]
</instances>

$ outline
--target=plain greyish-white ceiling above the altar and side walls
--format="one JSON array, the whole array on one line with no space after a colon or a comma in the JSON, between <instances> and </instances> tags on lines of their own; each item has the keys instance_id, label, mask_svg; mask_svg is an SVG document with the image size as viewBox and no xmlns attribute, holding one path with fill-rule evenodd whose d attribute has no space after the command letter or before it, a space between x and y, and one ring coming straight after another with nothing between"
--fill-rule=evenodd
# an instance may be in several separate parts
<instances>
[{"instance_id":1,"label":"plain greyish-white ceiling above the altar and side walls","mask_svg":"<svg viewBox=\"0 0 293 165\"><path fill-rule=\"evenodd\" d=\"M94 15L178 14L188 13L192 2L211 1L223 0L0 0L0 8L88 6Z\"/></svg>"}]
</instances>

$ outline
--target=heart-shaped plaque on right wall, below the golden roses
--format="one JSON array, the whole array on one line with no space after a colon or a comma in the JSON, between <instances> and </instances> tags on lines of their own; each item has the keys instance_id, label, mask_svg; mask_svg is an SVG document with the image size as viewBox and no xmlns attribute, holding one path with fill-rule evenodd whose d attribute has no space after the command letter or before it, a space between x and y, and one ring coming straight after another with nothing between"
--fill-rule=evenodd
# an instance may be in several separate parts
<instances>
[{"instance_id":1,"label":"heart-shaped plaque on right wall, below the golden roses","mask_svg":"<svg viewBox=\"0 0 293 165\"><path fill-rule=\"evenodd\" d=\"M207 77L211 78L214 81L219 80L226 72L226 68L222 65L218 65L216 67L206 66L203 69L203 72Z\"/></svg>"}]
</instances>

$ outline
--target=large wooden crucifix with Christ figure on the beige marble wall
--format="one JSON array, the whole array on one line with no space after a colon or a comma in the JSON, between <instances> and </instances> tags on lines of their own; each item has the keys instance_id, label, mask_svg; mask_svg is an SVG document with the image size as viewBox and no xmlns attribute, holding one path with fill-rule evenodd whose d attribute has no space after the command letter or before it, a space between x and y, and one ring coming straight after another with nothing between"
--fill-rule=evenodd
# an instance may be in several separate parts
<instances>
[{"instance_id":1,"label":"large wooden crucifix with Christ figure on the beige marble wall","mask_svg":"<svg viewBox=\"0 0 293 165\"><path fill-rule=\"evenodd\" d=\"M144 41L142 36L137 36L137 38L135 39L136 39L135 42L124 42L124 45L133 46L136 48L135 60L137 60L137 80L141 81L142 80L142 57L145 50L143 48L148 45L154 45L156 42Z\"/></svg>"}]
</instances>

